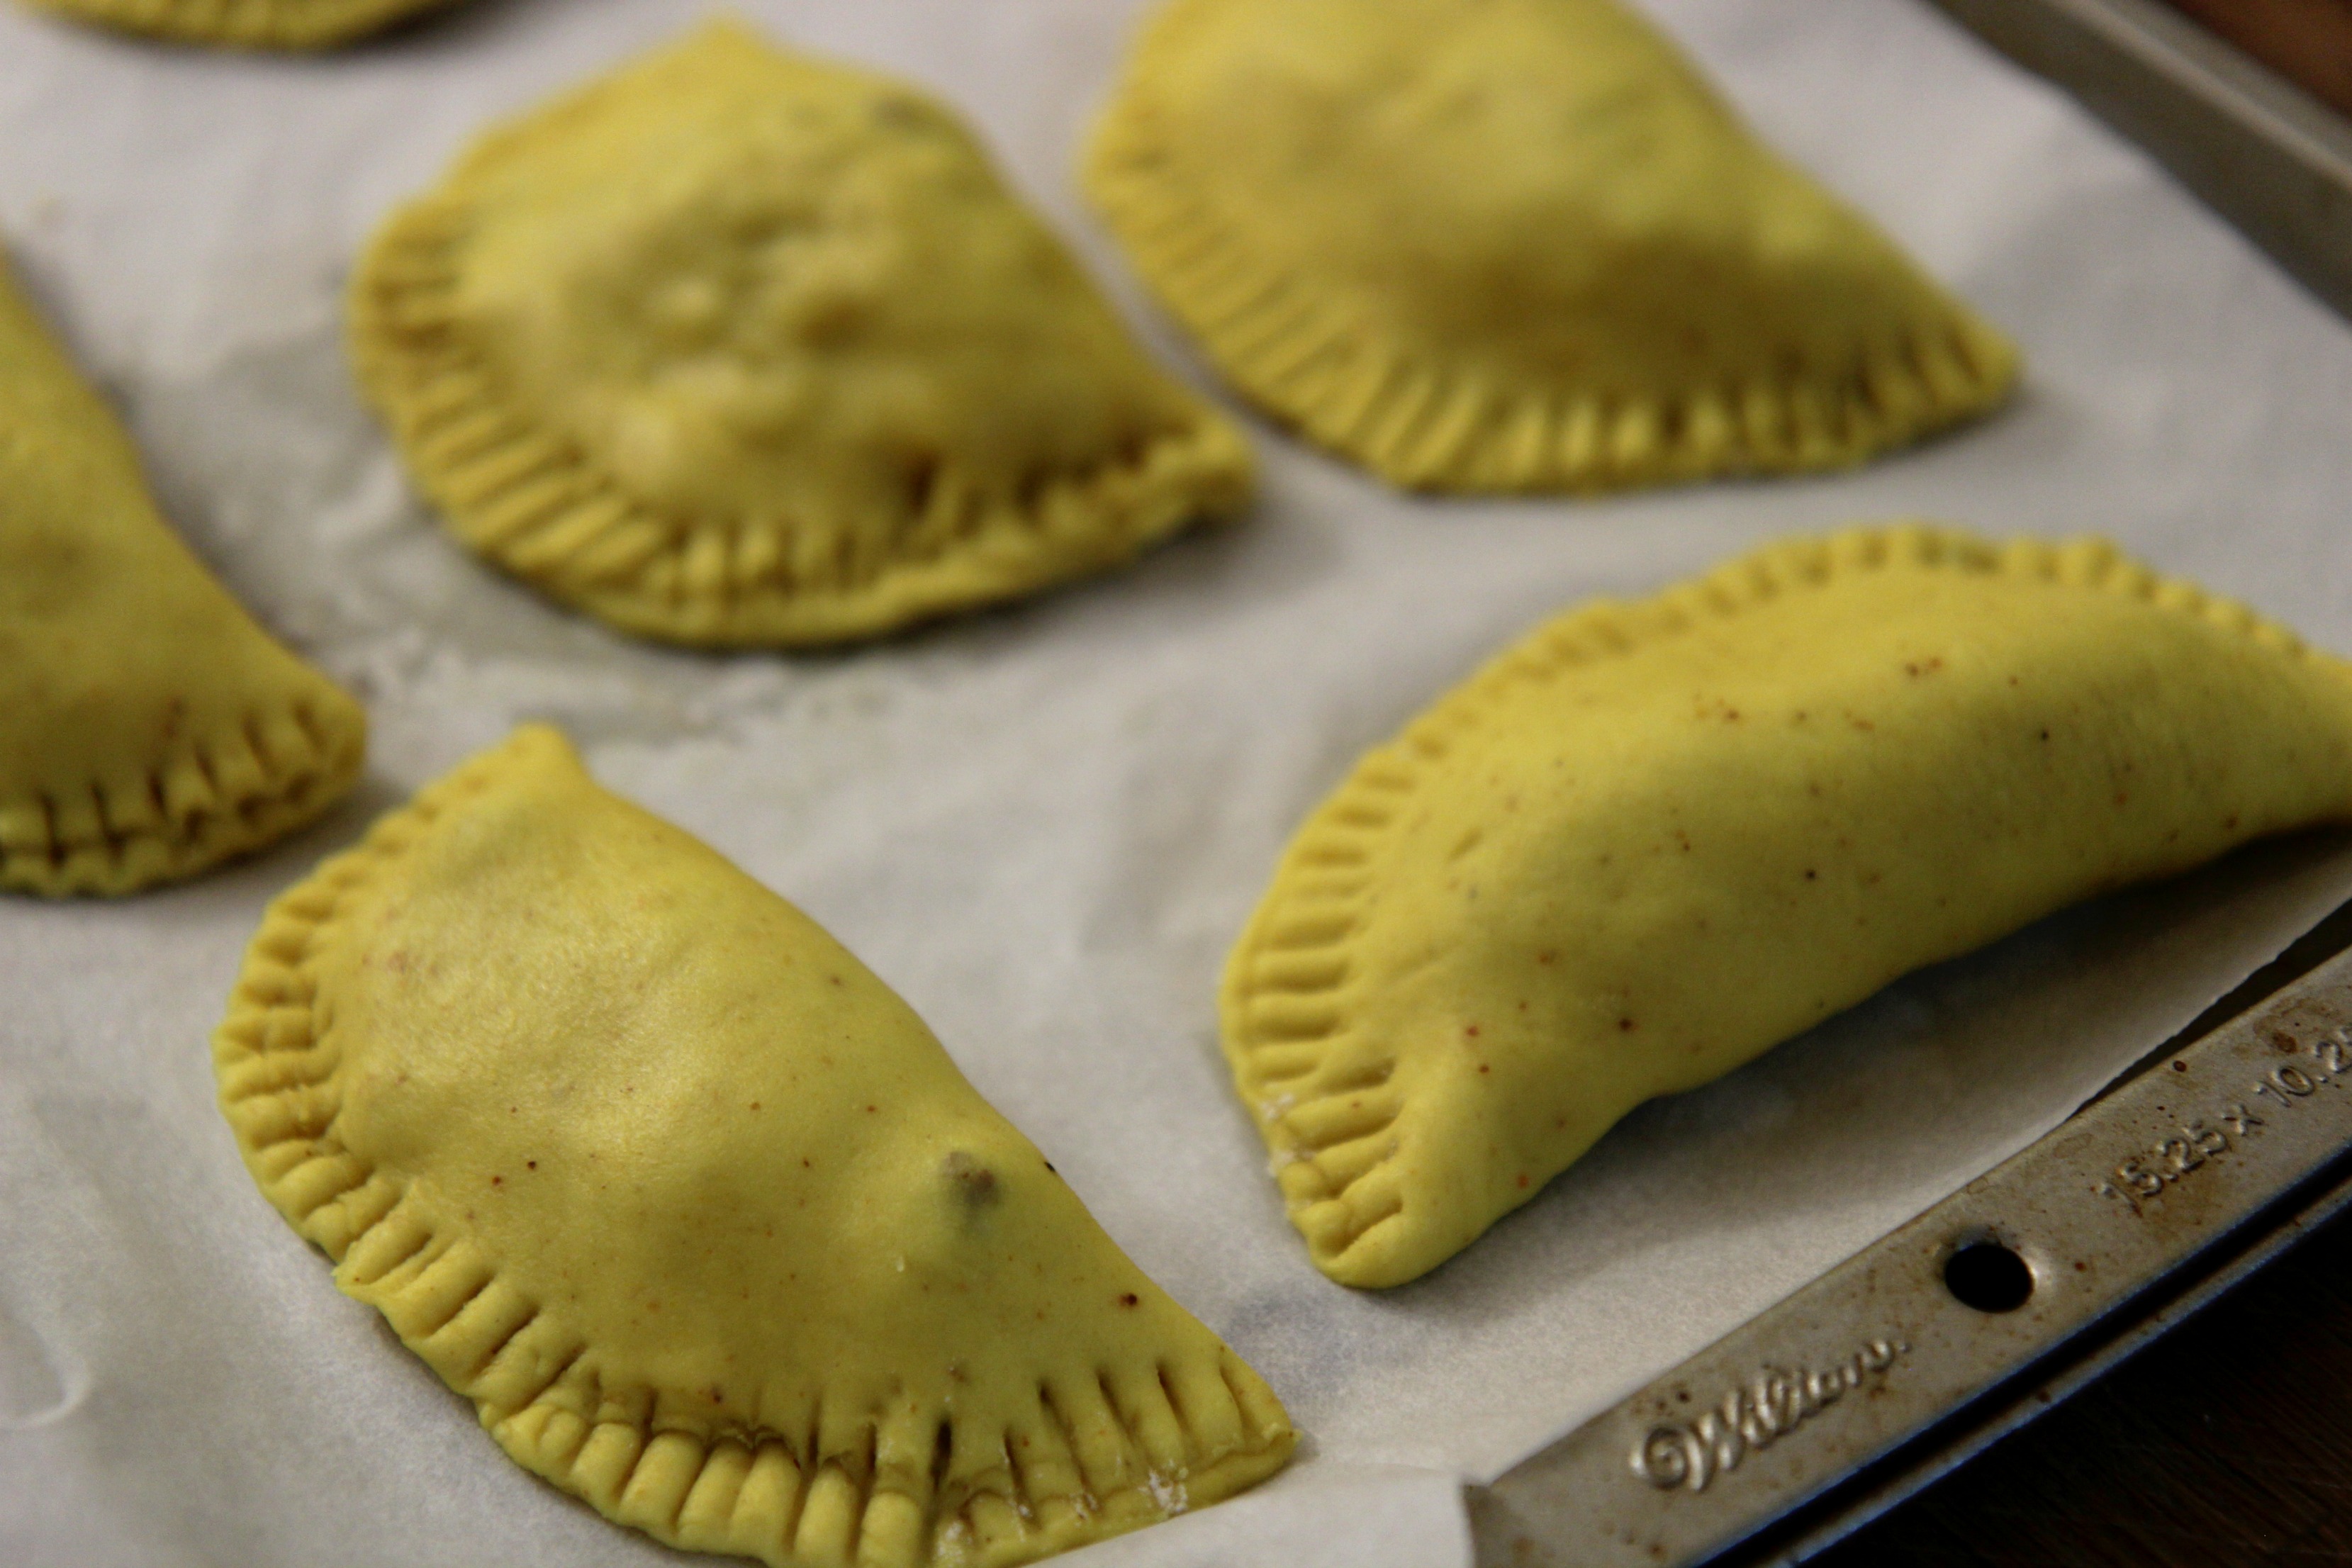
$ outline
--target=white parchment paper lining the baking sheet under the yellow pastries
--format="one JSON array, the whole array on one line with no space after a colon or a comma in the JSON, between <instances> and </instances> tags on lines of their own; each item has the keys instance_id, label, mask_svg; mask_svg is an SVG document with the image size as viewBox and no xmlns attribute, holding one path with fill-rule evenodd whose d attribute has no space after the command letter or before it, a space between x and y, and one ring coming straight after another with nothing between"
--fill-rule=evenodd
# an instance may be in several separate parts
<instances>
[{"instance_id":1,"label":"white parchment paper lining the baking sheet under the yellow pastries","mask_svg":"<svg viewBox=\"0 0 2352 1568\"><path fill-rule=\"evenodd\" d=\"M931 82L1141 308L1070 181L1127 0L736 0ZM1080 1554L1451 1568L1491 1476L2063 1119L2352 893L2258 849L1917 976L1628 1119L1454 1265L1315 1274L1214 983L1348 762L1545 611L1924 512L2105 531L2352 651L2352 334L1919 0L1656 0L1780 148L2025 346L2016 409L1865 473L1602 503L1399 498L1263 430L1265 503L1108 581L823 658L623 642L409 501L339 353L369 226L494 115L701 0L480 0L223 59L0 2L0 233L167 508L360 691L355 804L195 886L0 900L0 1561L652 1563L508 1465L247 1180L207 1032L263 903L524 717L866 957L1310 1434L1270 1488ZM1073 1559L1073 1568L1075 1561Z\"/></svg>"}]
</instances>

